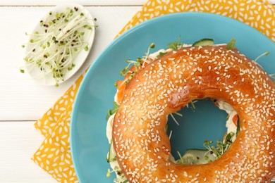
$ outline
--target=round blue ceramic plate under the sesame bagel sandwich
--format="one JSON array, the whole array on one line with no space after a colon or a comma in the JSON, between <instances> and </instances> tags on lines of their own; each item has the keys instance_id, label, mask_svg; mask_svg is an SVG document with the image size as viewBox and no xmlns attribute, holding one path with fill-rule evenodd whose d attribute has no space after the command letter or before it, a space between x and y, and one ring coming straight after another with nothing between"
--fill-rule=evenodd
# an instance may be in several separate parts
<instances>
[{"instance_id":1,"label":"round blue ceramic plate under the sesame bagel sandwich","mask_svg":"<svg viewBox=\"0 0 275 183\"><path fill-rule=\"evenodd\" d=\"M269 73L275 72L275 44L262 33L231 18L208 13L175 13L154 18L128 30L99 55L88 70L73 106L71 123L71 148L73 163L80 182L112 182L106 177L109 163L106 153L106 112L112 108L116 87L121 80L118 73L126 66L126 58L144 56L149 44L158 49L181 36L183 43L193 43L202 38L212 38L216 44L236 38L236 46L246 56L255 59L269 51L258 61ZM226 113L211 101L195 103L196 109L183 108L180 127L171 123L172 154L182 154L186 149L202 148L205 139L221 139L225 132Z\"/></svg>"}]
</instances>

